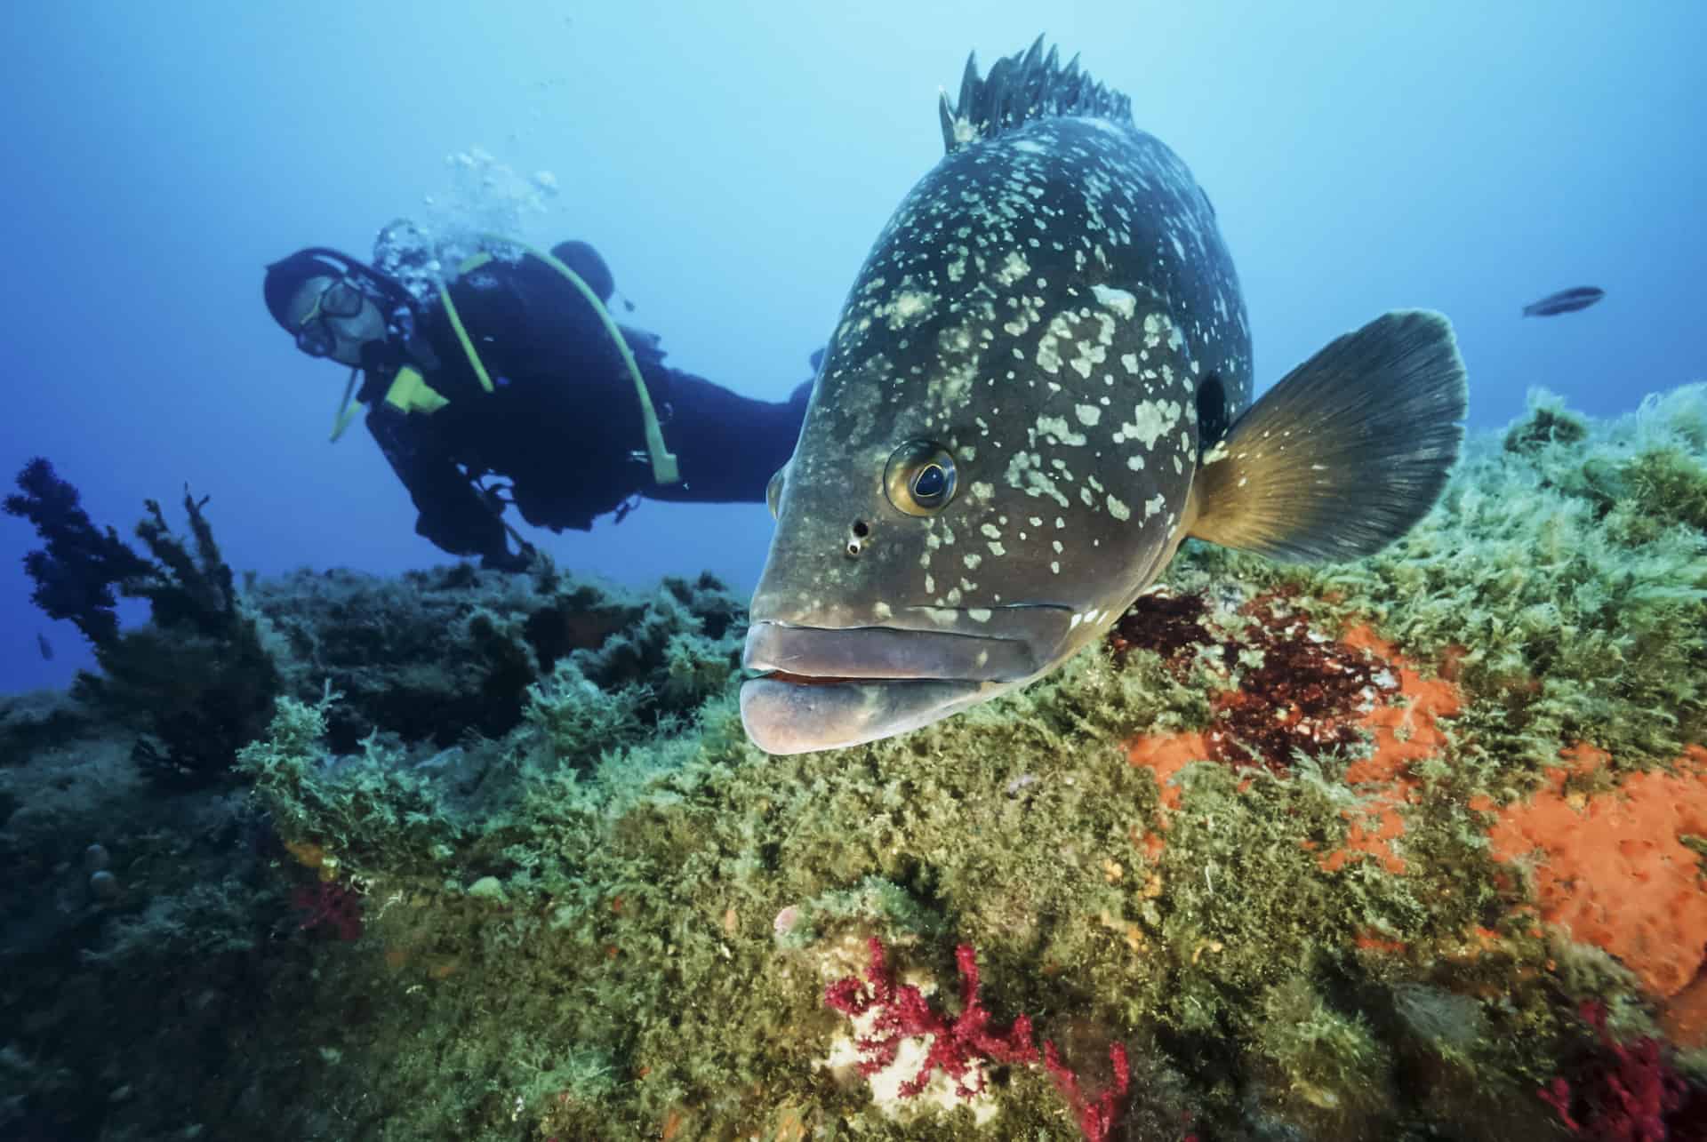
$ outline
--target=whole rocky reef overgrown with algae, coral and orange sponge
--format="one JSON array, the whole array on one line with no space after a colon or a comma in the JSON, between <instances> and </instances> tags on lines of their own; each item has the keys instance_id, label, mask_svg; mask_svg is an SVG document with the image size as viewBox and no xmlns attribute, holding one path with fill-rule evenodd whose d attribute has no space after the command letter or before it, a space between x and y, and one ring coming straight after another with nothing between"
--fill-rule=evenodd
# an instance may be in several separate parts
<instances>
[{"instance_id":1,"label":"whole rocky reef overgrown with algae, coral and orange sponge","mask_svg":"<svg viewBox=\"0 0 1707 1142\"><path fill-rule=\"evenodd\" d=\"M746 743L710 579L215 594L96 626L253 667L217 748L0 700L0 1135L1707 1137L1704 386L847 751Z\"/></svg>"}]
</instances>

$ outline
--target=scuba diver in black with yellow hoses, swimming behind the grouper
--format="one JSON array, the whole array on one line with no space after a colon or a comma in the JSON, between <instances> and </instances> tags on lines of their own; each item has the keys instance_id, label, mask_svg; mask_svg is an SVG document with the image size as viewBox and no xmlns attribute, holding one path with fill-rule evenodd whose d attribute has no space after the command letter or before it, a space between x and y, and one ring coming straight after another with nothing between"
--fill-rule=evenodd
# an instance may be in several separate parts
<instances>
[{"instance_id":1,"label":"scuba diver in black with yellow hoses, swimming behind the grouper","mask_svg":"<svg viewBox=\"0 0 1707 1142\"><path fill-rule=\"evenodd\" d=\"M655 335L611 318L615 278L586 242L493 239L440 282L399 229L381 232L376 258L391 273L316 246L266 266L263 295L299 350L350 367L331 439L367 408L417 534L524 570L534 550L509 504L534 527L587 531L640 497L765 500L811 381L760 401L666 365Z\"/></svg>"}]
</instances>

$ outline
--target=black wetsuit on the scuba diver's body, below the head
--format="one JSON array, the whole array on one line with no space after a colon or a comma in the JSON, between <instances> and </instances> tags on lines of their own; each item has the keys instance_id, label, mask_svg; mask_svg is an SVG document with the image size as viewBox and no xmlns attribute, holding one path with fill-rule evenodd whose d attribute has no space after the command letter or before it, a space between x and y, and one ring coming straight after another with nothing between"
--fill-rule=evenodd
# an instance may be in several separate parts
<instances>
[{"instance_id":1,"label":"black wetsuit on the scuba diver's body, below the head","mask_svg":"<svg viewBox=\"0 0 1707 1142\"><path fill-rule=\"evenodd\" d=\"M469 475L510 481L536 527L589 529L637 492L659 500L760 502L789 459L811 384L785 403L739 396L664 364L657 336L623 328L681 481L655 485L633 379L592 304L536 258L492 259L449 285L481 364L480 384L444 306L420 318L415 360L367 362L367 427L415 500L415 531L452 555L514 565L504 524ZM437 360L422 360L428 352ZM430 391L398 384L411 364ZM413 396L411 396L413 393ZM444 398L447 403L439 403Z\"/></svg>"}]
</instances>

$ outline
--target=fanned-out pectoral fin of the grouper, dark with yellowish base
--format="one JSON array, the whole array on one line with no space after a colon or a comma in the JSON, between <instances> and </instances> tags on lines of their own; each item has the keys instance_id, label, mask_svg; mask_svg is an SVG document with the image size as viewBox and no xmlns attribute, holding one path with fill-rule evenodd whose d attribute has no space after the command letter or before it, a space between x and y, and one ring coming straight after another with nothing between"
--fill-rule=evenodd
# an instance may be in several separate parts
<instances>
[{"instance_id":1,"label":"fanned-out pectoral fin of the grouper, dark with yellowish base","mask_svg":"<svg viewBox=\"0 0 1707 1142\"><path fill-rule=\"evenodd\" d=\"M1190 534L1279 560L1372 555L1434 507L1466 403L1444 316L1376 318L1287 374L1203 454Z\"/></svg>"}]
</instances>

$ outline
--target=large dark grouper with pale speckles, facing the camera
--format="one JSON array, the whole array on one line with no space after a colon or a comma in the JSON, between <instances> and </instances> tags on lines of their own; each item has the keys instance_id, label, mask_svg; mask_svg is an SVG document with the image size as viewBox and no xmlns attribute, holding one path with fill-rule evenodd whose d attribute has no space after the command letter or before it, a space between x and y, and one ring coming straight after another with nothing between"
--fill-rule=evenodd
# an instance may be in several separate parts
<instances>
[{"instance_id":1,"label":"large dark grouper with pale speckles, facing the camera","mask_svg":"<svg viewBox=\"0 0 1707 1142\"><path fill-rule=\"evenodd\" d=\"M941 101L946 155L848 292L753 594L770 753L854 746L1046 674L1186 536L1352 560L1463 442L1446 318L1388 312L1251 403L1215 212L1130 101L1043 39Z\"/></svg>"}]
</instances>

